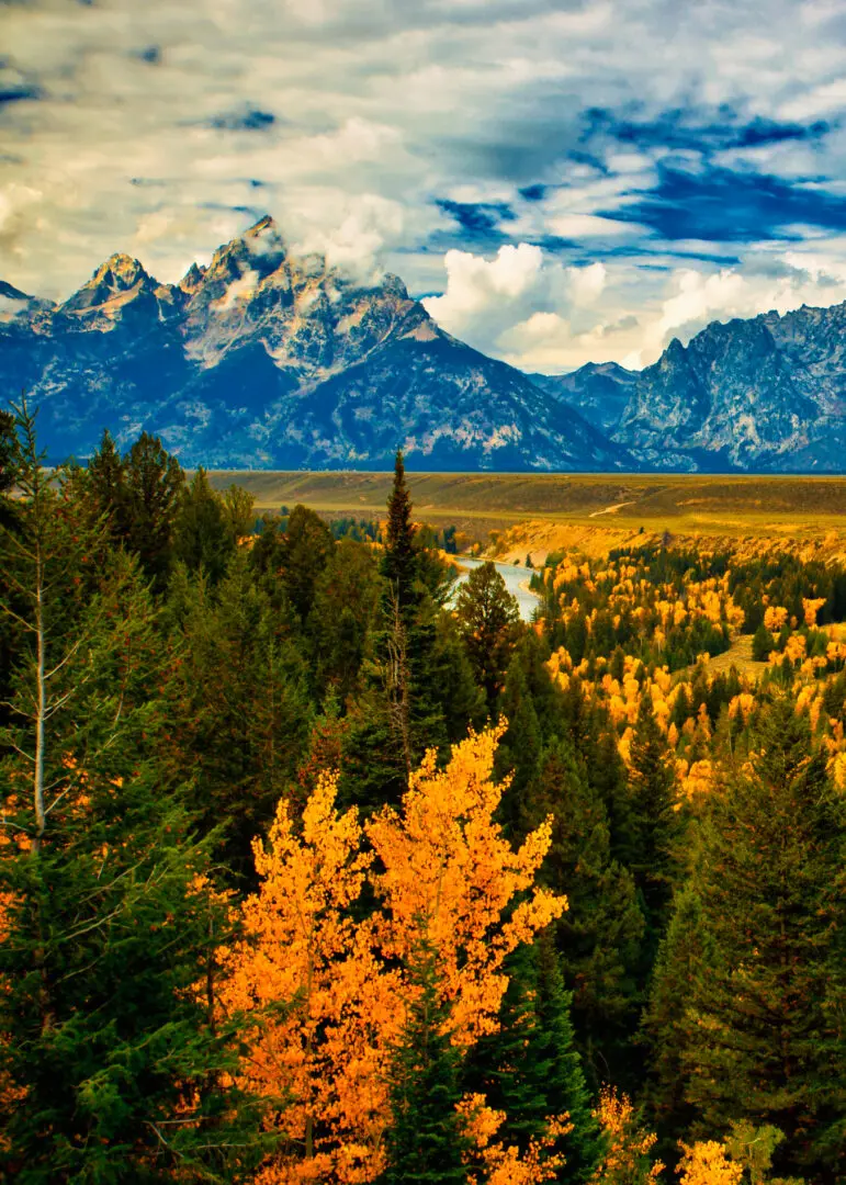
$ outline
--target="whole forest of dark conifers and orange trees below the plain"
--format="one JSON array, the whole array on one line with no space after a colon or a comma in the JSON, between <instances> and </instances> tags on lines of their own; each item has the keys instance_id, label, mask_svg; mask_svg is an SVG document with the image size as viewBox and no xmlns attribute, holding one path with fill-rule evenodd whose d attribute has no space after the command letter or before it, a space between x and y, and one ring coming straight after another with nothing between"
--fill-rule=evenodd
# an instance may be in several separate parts
<instances>
[{"instance_id":1,"label":"whole forest of dark conifers and orange trees below the plain","mask_svg":"<svg viewBox=\"0 0 846 1185\"><path fill-rule=\"evenodd\" d=\"M846 568L455 550L0 417L4 1180L846 1179Z\"/></svg>"}]
</instances>

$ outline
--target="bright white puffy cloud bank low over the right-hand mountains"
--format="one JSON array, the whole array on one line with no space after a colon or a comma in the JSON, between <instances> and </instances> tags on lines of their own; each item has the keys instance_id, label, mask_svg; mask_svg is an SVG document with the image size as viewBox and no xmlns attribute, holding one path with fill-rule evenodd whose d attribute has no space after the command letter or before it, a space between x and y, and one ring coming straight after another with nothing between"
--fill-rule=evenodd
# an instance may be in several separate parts
<instances>
[{"instance_id":1,"label":"bright white puffy cloud bank low over the right-hand mountains","mask_svg":"<svg viewBox=\"0 0 846 1185\"><path fill-rule=\"evenodd\" d=\"M527 371L587 361L640 369L672 338L687 342L710 321L846 300L846 243L839 263L793 249L756 260L746 274L675 267L658 283L648 271L633 278L632 263L565 268L534 251L518 258L513 248L491 261L450 251L446 293L424 303L450 333Z\"/></svg>"}]
</instances>

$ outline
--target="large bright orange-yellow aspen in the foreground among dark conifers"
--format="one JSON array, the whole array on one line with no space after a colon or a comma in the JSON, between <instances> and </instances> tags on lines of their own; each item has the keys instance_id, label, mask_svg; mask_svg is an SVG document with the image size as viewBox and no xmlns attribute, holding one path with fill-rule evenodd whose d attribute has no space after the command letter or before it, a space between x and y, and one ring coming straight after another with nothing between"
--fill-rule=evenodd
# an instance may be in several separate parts
<instances>
[{"instance_id":1,"label":"large bright orange-yellow aspen in the foreground among dark conifers","mask_svg":"<svg viewBox=\"0 0 846 1185\"><path fill-rule=\"evenodd\" d=\"M283 801L267 845L256 841L261 886L222 959L223 1005L261 1018L244 1080L288 1100L262 1185L363 1185L385 1167L389 1064L418 991L406 968L422 937L437 950L453 1043L467 1048L496 1027L505 957L566 909L534 885L550 825L514 851L494 821L502 731L470 735L446 769L427 756L399 808L364 827L338 811L338 780L323 774L301 826Z\"/></svg>"}]
</instances>

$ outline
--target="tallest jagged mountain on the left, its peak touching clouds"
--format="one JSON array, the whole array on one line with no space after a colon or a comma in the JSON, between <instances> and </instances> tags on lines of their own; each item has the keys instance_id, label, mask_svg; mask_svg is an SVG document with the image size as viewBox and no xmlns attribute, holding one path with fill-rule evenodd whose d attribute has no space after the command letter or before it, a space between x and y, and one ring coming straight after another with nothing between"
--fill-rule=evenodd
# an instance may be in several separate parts
<instances>
[{"instance_id":1,"label":"tallest jagged mountain on the left, its peak touching clouds","mask_svg":"<svg viewBox=\"0 0 846 1185\"><path fill-rule=\"evenodd\" d=\"M9 286L11 287L11 286ZM158 433L185 465L629 468L568 404L444 333L396 276L357 284L294 258L273 219L161 284L114 255L62 305L0 301L0 378L40 408L51 455L108 427Z\"/></svg>"}]
</instances>

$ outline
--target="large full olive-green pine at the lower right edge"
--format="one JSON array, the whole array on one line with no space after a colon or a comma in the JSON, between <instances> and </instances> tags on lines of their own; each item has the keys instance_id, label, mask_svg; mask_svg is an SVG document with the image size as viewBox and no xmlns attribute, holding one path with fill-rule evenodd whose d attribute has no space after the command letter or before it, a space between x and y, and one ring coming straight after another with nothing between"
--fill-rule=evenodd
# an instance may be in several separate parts
<instances>
[{"instance_id":1,"label":"large full olive-green pine at the lower right edge","mask_svg":"<svg viewBox=\"0 0 846 1185\"><path fill-rule=\"evenodd\" d=\"M712 954L680 1021L685 1097L707 1130L784 1135L778 1170L846 1171L846 802L807 718L776 699L703 820L693 886Z\"/></svg>"}]
</instances>

